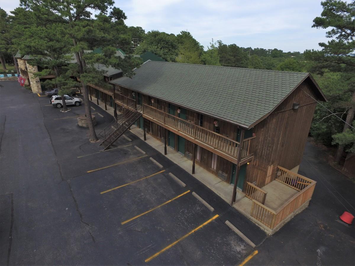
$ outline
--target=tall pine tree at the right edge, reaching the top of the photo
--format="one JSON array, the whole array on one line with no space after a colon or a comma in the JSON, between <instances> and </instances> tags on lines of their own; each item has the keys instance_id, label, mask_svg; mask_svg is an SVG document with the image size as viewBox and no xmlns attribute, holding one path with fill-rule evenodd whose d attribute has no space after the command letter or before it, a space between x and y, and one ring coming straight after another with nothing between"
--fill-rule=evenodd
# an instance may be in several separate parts
<instances>
[{"instance_id":1,"label":"tall pine tree at the right edge, reaching the top of the photo","mask_svg":"<svg viewBox=\"0 0 355 266\"><path fill-rule=\"evenodd\" d=\"M313 20L313 26L316 28L331 28L327 32L327 37L332 40L327 43L320 43L322 50L306 50L305 57L308 60L315 61L313 71L324 73L325 71L348 73L347 90L340 90L339 96L343 93L350 93L350 100L344 106L346 112L346 123L344 123L343 132L345 133L355 116L355 1L345 2L340 0L323 1L323 12L320 17ZM343 156L344 145L338 145L335 162L340 161Z\"/></svg>"}]
</instances>

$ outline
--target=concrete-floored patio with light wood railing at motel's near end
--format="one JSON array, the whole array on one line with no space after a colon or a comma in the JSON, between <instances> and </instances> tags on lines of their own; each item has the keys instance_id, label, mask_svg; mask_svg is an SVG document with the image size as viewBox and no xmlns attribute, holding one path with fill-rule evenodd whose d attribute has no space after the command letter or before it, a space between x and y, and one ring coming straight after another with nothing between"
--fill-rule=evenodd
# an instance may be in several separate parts
<instances>
[{"instance_id":1,"label":"concrete-floored patio with light wood railing at motel's near end","mask_svg":"<svg viewBox=\"0 0 355 266\"><path fill-rule=\"evenodd\" d=\"M268 234L276 232L307 206L316 185L312 179L280 166L278 169L274 181L256 189L264 194L252 190L254 191L252 195L246 196L233 205ZM262 199L264 203L260 202Z\"/></svg>"}]
</instances>

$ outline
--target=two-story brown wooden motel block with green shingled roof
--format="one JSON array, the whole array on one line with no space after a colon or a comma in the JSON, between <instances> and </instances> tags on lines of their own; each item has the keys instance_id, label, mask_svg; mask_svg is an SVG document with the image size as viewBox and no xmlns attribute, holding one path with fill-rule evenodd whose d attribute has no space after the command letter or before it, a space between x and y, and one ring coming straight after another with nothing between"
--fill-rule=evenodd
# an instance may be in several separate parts
<instances>
[{"instance_id":1,"label":"two-story brown wooden motel block with green shingled roof","mask_svg":"<svg viewBox=\"0 0 355 266\"><path fill-rule=\"evenodd\" d=\"M135 73L110 81L115 102L136 102L138 127L234 184L232 203L239 189L263 204L255 189L283 177L299 192L315 184L297 179L316 100L326 101L309 73L154 61Z\"/></svg>"}]
</instances>

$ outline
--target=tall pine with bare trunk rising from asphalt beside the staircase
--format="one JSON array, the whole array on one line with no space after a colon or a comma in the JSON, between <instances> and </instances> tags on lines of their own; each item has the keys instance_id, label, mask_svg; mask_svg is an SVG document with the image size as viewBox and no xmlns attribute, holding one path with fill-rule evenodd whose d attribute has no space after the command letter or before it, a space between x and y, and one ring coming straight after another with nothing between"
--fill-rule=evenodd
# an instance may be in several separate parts
<instances>
[{"instance_id":1,"label":"tall pine with bare trunk rising from asphalt beside the staircase","mask_svg":"<svg viewBox=\"0 0 355 266\"><path fill-rule=\"evenodd\" d=\"M132 76L133 70L128 63L129 58L121 59L115 56L117 32L126 18L124 12L113 7L112 0L21 0L21 5L32 11L38 20L47 24L57 23L63 25L71 41L71 50L75 54L76 64L69 65L72 75L78 77L82 83L85 115L91 117L89 105L88 83L102 81L102 75L95 69L95 63L103 63L122 69L125 75ZM92 17L92 11L99 15ZM110 12L108 13L108 11ZM86 49L109 47L103 54L84 53ZM89 140L97 141L94 125L88 119Z\"/></svg>"}]
</instances>

